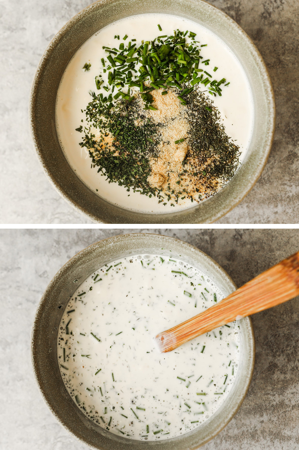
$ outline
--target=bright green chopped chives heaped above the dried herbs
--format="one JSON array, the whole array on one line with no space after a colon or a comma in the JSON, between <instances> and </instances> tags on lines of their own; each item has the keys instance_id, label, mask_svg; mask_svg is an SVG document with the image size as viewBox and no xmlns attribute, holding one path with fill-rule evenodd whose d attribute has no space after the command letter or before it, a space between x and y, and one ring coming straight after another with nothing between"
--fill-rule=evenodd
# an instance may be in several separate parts
<instances>
[{"instance_id":1,"label":"bright green chopped chives heaped above the dried herbs","mask_svg":"<svg viewBox=\"0 0 299 450\"><path fill-rule=\"evenodd\" d=\"M161 31L160 25L158 27ZM186 42L187 35L192 42L191 44ZM140 92L144 92L145 82L154 89L171 86L180 90L183 89L183 83L187 83L189 92L192 91L192 86L201 83L209 86L210 94L222 95L220 85L224 84L226 79L222 78L217 81L213 79L212 74L203 68L199 68L200 64L209 66L210 59L201 61L203 59L200 55L201 47L205 47L206 44L199 46L195 37L196 33L191 31L177 30L171 36L161 35L151 42L142 41L139 47L136 46L135 39L129 41L128 45L121 42L118 49L103 46L108 54L107 67L105 66L107 61L105 62L105 58L102 58L103 72L108 71L108 83L103 86L102 75L96 76L97 89L102 86L108 92L111 89L110 86L112 86L113 92L116 87L119 91L113 98L118 99L122 96L123 99L129 100L131 98L130 88L138 88ZM115 36L115 38L120 39L119 36ZM125 35L123 40L127 38L128 36ZM213 72L216 72L217 69L218 67L214 67ZM125 85L128 85L127 94L123 92ZM229 82L225 85L229 85ZM146 95L143 99L146 104L145 109L155 109L151 106L151 99L147 99ZM183 96L181 100L183 103L185 102Z\"/></svg>"}]
</instances>

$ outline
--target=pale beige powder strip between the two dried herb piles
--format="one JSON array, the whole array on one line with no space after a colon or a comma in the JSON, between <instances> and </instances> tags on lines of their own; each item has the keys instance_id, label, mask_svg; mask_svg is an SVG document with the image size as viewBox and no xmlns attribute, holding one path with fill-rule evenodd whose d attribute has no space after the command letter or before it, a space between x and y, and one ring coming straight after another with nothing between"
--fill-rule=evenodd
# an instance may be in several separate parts
<instances>
[{"instance_id":1,"label":"pale beige powder strip between the two dried herb piles","mask_svg":"<svg viewBox=\"0 0 299 450\"><path fill-rule=\"evenodd\" d=\"M146 119L150 118L160 128L161 142L157 146L158 157L150 158L152 173L148 176L148 184L158 190L162 190L171 198L186 196L198 201L200 198L207 198L220 189L220 180L215 177L205 176L199 178L198 172L204 172L208 165L213 165L212 158L201 164L188 146L188 133L192 123L187 115L187 106L178 99L175 90L168 90L162 95L164 89L151 91L153 97L152 106L157 111L151 109L144 110L144 103L140 95L137 102L140 113ZM196 120L196 117L195 117ZM141 126L142 120L138 120L136 125ZM183 142L175 143L180 139ZM214 159L214 157L213 157Z\"/></svg>"}]
</instances>

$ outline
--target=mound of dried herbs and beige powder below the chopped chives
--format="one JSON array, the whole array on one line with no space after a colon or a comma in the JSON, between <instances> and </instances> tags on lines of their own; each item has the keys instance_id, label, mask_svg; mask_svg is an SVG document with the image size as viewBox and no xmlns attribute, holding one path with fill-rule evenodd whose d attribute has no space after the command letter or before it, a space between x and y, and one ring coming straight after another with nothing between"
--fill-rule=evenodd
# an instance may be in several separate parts
<instances>
[{"instance_id":1,"label":"mound of dried herbs and beige powder below the chopped chives","mask_svg":"<svg viewBox=\"0 0 299 450\"><path fill-rule=\"evenodd\" d=\"M113 107L93 94L86 116L89 129L80 145L98 172L164 204L209 198L239 163L239 147L201 90L145 86Z\"/></svg>"}]
</instances>

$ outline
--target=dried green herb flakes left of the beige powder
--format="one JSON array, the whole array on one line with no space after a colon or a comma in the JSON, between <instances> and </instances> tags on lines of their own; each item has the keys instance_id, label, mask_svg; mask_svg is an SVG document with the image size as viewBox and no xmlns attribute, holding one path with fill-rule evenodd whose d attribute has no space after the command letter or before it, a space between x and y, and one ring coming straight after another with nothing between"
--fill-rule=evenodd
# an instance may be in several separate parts
<instances>
[{"instance_id":1,"label":"dried green herb flakes left of the beige powder","mask_svg":"<svg viewBox=\"0 0 299 450\"><path fill-rule=\"evenodd\" d=\"M147 183L151 173L149 157L157 157L156 147L159 143L158 126L146 121L143 126L136 126L140 114L134 104L121 99L116 107L107 108L101 96L95 96L86 108L87 120L93 122L94 128L101 130L95 139L93 128L85 130L85 137L80 143L89 149L94 166L98 172L107 176L110 182L116 182L146 195L157 195L159 190ZM105 138L113 136L112 144Z\"/></svg>"}]
</instances>

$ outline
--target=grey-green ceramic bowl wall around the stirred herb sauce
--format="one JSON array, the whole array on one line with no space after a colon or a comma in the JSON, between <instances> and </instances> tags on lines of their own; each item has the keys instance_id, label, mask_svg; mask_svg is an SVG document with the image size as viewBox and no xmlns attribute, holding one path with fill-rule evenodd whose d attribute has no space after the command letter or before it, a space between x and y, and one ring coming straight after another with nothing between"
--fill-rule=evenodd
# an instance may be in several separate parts
<instances>
[{"instance_id":1,"label":"grey-green ceramic bowl wall around the stirred herb sauce","mask_svg":"<svg viewBox=\"0 0 299 450\"><path fill-rule=\"evenodd\" d=\"M89 420L76 406L64 386L56 342L58 326L68 301L89 275L116 258L141 252L181 257L213 279L223 294L236 286L210 257L179 239L156 234L122 234L85 248L72 257L54 276L38 306L32 329L31 356L40 393L58 422L90 448L100 450L194 450L212 439L240 408L250 385L254 367L254 333L249 317L239 321L241 356L232 391L219 410L199 428L164 441L135 441L116 436Z\"/></svg>"}]
</instances>

